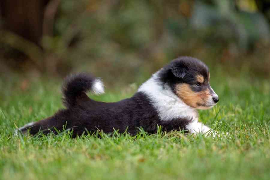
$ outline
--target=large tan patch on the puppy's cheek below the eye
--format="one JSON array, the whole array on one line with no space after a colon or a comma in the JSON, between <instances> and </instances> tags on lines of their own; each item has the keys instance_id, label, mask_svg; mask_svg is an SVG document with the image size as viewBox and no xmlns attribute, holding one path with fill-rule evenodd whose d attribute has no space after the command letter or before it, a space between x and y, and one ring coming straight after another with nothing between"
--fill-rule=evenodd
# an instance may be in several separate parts
<instances>
[{"instance_id":1,"label":"large tan patch on the puppy's cheek below the eye","mask_svg":"<svg viewBox=\"0 0 270 180\"><path fill-rule=\"evenodd\" d=\"M198 104L205 104L210 98L210 91L207 88L205 91L194 92L190 85L183 83L176 85L176 95L190 107L198 108Z\"/></svg>"}]
</instances>

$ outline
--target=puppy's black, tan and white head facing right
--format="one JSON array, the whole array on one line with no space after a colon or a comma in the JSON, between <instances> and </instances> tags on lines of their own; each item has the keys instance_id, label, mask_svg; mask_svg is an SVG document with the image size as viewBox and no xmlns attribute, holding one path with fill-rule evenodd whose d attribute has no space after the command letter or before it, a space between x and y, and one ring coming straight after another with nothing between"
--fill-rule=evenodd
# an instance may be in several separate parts
<instances>
[{"instance_id":1,"label":"puppy's black, tan and white head facing right","mask_svg":"<svg viewBox=\"0 0 270 180\"><path fill-rule=\"evenodd\" d=\"M209 84L208 67L196 58L173 60L160 77L190 107L209 109L218 102L218 96Z\"/></svg>"}]
</instances>

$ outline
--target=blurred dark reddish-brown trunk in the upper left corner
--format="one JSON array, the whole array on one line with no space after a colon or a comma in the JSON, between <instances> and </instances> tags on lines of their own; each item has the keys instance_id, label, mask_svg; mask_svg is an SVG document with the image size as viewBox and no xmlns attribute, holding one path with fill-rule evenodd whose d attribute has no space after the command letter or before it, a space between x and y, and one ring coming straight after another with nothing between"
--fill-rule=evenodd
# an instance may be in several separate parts
<instances>
[{"instance_id":1,"label":"blurred dark reddish-brown trunk in the upper left corner","mask_svg":"<svg viewBox=\"0 0 270 180\"><path fill-rule=\"evenodd\" d=\"M49 0L1 0L4 29L40 45L44 9Z\"/></svg>"}]
</instances>

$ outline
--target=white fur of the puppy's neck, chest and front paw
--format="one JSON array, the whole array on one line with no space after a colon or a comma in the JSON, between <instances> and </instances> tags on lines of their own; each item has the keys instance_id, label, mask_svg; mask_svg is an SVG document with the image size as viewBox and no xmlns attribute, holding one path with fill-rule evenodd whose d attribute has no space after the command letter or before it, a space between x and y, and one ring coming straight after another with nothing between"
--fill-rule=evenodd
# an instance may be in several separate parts
<instances>
[{"instance_id":1,"label":"white fur of the puppy's neck, chest and front paw","mask_svg":"<svg viewBox=\"0 0 270 180\"><path fill-rule=\"evenodd\" d=\"M161 85L157 73L153 74L150 79L144 82L138 89L138 92L143 92L149 97L151 104L158 111L160 120L170 121L181 118L192 119L192 122L186 127L190 133L197 134L200 132L207 133L212 131L206 125L198 122L198 113L195 108L185 104L173 93L168 85Z\"/></svg>"}]
</instances>

